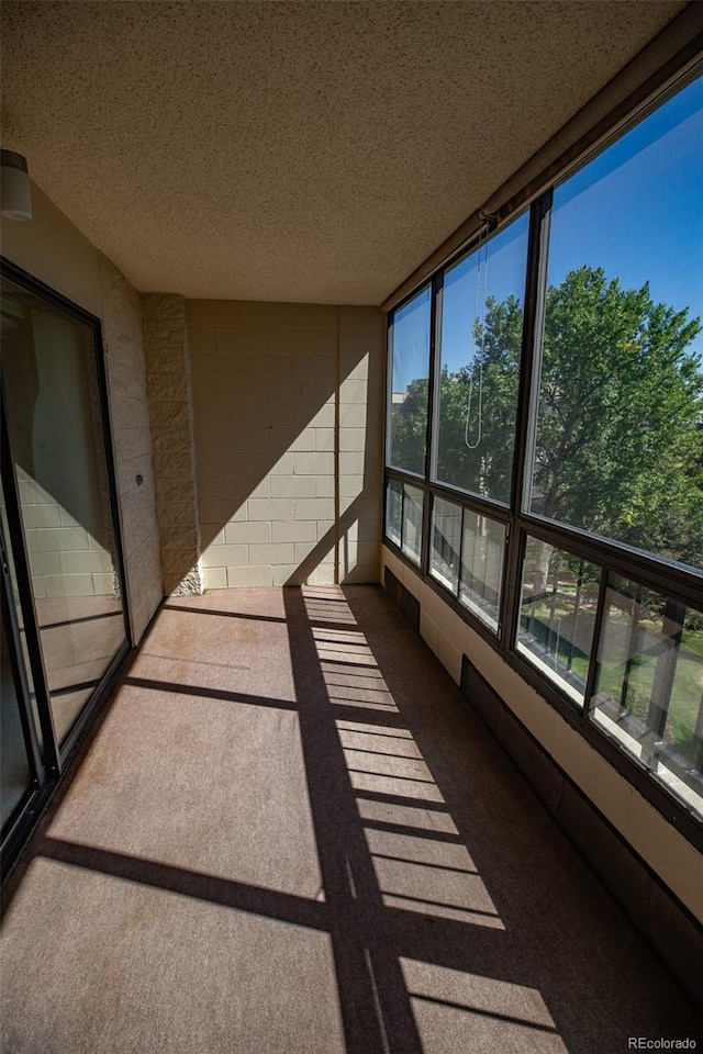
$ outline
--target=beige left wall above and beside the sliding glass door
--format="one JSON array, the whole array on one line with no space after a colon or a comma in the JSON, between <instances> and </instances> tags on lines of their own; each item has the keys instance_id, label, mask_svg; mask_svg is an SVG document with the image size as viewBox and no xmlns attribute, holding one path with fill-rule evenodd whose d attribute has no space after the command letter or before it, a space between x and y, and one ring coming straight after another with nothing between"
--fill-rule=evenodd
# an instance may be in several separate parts
<instances>
[{"instance_id":1,"label":"beige left wall above and beside the sliding glass door","mask_svg":"<svg viewBox=\"0 0 703 1054\"><path fill-rule=\"evenodd\" d=\"M136 643L163 593L140 296L36 186L32 195L32 221L2 220L2 254L102 323L130 619ZM33 504L51 504L42 503L41 497L34 494ZM56 514L35 509L31 515ZM97 562L86 574L108 573L102 564L98 568L98 556L89 559ZM107 579L97 581L107 586Z\"/></svg>"}]
</instances>

